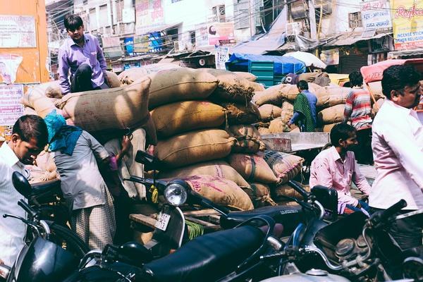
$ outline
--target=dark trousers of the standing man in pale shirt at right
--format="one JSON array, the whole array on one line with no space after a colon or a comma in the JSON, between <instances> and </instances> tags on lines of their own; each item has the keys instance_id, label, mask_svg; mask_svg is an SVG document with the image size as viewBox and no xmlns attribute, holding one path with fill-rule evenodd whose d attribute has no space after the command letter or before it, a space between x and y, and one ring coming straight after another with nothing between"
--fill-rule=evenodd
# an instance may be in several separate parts
<instances>
[{"instance_id":1,"label":"dark trousers of the standing man in pale shirt at right","mask_svg":"<svg viewBox=\"0 0 423 282\"><path fill-rule=\"evenodd\" d=\"M370 213L381 211L383 209L376 209L370 207ZM406 214L407 211L400 211L400 214ZM386 230L396 240L396 243L402 250L410 249L411 247L419 247L422 245L422 228L423 228L423 214L416 214L415 216L408 216L405 219L393 221L391 226Z\"/></svg>"}]
</instances>

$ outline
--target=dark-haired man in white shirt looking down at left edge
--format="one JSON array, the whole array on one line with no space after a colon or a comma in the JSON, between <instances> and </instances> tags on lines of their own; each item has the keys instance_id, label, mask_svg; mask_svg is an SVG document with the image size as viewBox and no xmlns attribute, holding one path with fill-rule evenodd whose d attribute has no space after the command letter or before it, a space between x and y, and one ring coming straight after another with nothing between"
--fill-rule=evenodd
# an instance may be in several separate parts
<instances>
[{"instance_id":1,"label":"dark-haired man in white shirt looking down at left edge","mask_svg":"<svg viewBox=\"0 0 423 282\"><path fill-rule=\"evenodd\" d=\"M18 206L23 196L13 187L12 174L18 171L29 178L25 164L32 164L47 144L47 126L39 116L21 116L13 125L11 141L0 147L0 260L12 266L22 249L25 224L17 219L3 218L14 214L25 218Z\"/></svg>"}]
</instances>

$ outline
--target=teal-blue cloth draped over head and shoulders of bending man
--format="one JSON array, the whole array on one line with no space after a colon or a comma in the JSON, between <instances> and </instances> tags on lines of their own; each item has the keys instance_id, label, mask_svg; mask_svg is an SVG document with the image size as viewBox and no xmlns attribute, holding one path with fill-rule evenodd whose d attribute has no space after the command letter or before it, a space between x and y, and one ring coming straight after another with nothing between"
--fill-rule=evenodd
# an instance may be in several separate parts
<instances>
[{"instance_id":1,"label":"teal-blue cloth draped over head and shoulders of bending man","mask_svg":"<svg viewBox=\"0 0 423 282\"><path fill-rule=\"evenodd\" d=\"M49 149L54 152L61 150L63 154L72 156L76 142L82 134L82 129L72 125L66 125L65 118L56 114L56 110L51 111L44 121L49 131Z\"/></svg>"}]
</instances>

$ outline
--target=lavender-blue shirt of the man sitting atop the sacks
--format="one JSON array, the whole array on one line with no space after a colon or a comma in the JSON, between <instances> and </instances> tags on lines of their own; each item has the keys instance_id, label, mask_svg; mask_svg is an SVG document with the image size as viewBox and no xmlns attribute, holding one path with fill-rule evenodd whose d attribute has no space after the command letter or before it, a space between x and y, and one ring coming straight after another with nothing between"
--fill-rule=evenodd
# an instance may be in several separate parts
<instances>
[{"instance_id":1,"label":"lavender-blue shirt of the man sitting atop the sacks","mask_svg":"<svg viewBox=\"0 0 423 282\"><path fill-rule=\"evenodd\" d=\"M92 68L92 87L98 87L104 83L106 77L106 60L100 48L97 37L85 33L84 45L80 47L72 38L63 42L59 49L59 81L63 94L71 92L71 85L68 80L68 71L71 75L75 73L82 63L87 63Z\"/></svg>"}]
</instances>

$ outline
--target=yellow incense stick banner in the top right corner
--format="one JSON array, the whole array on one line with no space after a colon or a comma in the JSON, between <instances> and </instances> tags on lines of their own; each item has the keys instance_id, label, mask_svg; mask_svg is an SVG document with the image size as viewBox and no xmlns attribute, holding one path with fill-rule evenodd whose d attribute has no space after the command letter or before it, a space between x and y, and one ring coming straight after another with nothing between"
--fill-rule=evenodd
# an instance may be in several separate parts
<instances>
[{"instance_id":1,"label":"yellow incense stick banner in the top right corner","mask_svg":"<svg viewBox=\"0 0 423 282\"><path fill-rule=\"evenodd\" d=\"M391 0L395 49L423 47L423 1Z\"/></svg>"}]
</instances>

